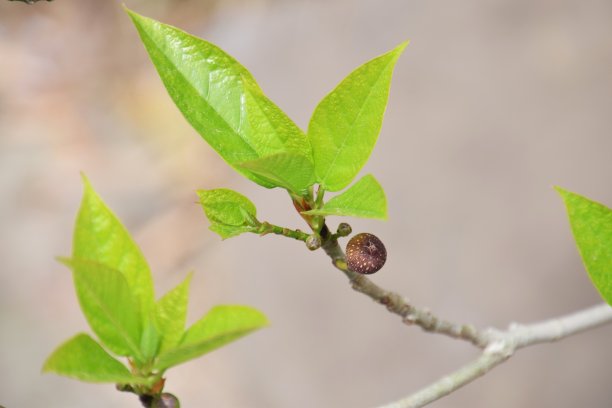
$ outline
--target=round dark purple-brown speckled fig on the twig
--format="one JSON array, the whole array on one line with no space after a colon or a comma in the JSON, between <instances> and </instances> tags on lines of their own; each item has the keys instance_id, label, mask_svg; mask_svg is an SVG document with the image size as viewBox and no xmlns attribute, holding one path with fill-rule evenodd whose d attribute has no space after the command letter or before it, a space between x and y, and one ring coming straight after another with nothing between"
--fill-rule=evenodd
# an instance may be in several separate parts
<instances>
[{"instance_id":1,"label":"round dark purple-brown speckled fig on the twig","mask_svg":"<svg viewBox=\"0 0 612 408\"><path fill-rule=\"evenodd\" d=\"M387 260L387 250L375 235L362 232L346 244L346 263L351 271L365 275L378 272Z\"/></svg>"}]
</instances>

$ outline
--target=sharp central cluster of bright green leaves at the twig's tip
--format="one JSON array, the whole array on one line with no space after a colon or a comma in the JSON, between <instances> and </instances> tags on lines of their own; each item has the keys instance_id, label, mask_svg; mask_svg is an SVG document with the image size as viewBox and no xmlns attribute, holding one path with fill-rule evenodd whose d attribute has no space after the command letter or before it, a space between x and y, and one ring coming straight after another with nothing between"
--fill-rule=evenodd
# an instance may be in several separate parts
<instances>
[{"instance_id":1,"label":"sharp central cluster of bright green leaves at the twig's tip","mask_svg":"<svg viewBox=\"0 0 612 408\"><path fill-rule=\"evenodd\" d=\"M374 148L393 68L407 43L351 72L318 104L303 132L219 47L128 13L187 121L240 174L263 187L287 190L315 234L329 215L387 218L385 193L374 176L347 187ZM342 190L325 202L325 192ZM218 189L198 195L211 230L222 238L273 232L239 193Z\"/></svg>"}]
</instances>

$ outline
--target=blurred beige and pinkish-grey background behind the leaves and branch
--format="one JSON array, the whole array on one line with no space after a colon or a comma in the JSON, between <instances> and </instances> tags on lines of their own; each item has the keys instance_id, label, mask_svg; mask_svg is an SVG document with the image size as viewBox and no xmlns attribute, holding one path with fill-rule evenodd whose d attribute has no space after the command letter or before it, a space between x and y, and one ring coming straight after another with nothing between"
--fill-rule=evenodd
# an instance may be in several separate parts
<instances>
[{"instance_id":1,"label":"blurred beige and pinkish-grey background behind the leaves and branch","mask_svg":"<svg viewBox=\"0 0 612 408\"><path fill-rule=\"evenodd\" d=\"M505 328L600 301L553 185L612 204L612 3L126 0L235 56L306 128L359 64L410 39L365 172L388 222L373 280L439 316ZM137 407L40 368L89 331L68 270L79 171L142 247L161 295L195 271L189 321L248 304L272 325L168 373L185 407L372 407L477 355L353 292L323 253L221 242L198 188L303 228L282 191L225 165L173 106L121 2L0 0L0 405ZM335 227L338 219L331 220ZM432 407L612 406L612 327L521 351Z\"/></svg>"}]
</instances>

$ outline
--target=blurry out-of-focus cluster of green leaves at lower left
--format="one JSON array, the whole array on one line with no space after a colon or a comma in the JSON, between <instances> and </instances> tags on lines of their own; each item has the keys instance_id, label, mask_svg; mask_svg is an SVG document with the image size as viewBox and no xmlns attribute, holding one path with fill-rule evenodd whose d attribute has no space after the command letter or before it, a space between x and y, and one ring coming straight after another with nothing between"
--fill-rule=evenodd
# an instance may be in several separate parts
<instances>
[{"instance_id":1,"label":"blurry out-of-focus cluster of green leaves at lower left","mask_svg":"<svg viewBox=\"0 0 612 408\"><path fill-rule=\"evenodd\" d=\"M259 311L221 305L185 329L191 274L155 299L149 266L119 219L83 177L72 256L81 310L93 336L59 346L43 371L90 382L114 382L139 395L163 389L164 372L267 325ZM117 357L126 357L129 366Z\"/></svg>"}]
</instances>

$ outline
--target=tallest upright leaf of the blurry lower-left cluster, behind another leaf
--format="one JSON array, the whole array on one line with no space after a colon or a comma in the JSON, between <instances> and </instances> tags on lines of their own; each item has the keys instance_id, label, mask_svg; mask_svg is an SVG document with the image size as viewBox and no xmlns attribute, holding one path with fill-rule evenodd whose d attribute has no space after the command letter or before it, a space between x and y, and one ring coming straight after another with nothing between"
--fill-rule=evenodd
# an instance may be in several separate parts
<instances>
[{"instance_id":1,"label":"tallest upright leaf of the blurry lower-left cluster, behind another leaf","mask_svg":"<svg viewBox=\"0 0 612 408\"><path fill-rule=\"evenodd\" d=\"M140 248L121 221L83 176L84 193L74 229L72 257L95 261L119 271L130 296L148 315L153 310L153 280Z\"/></svg>"}]
</instances>

